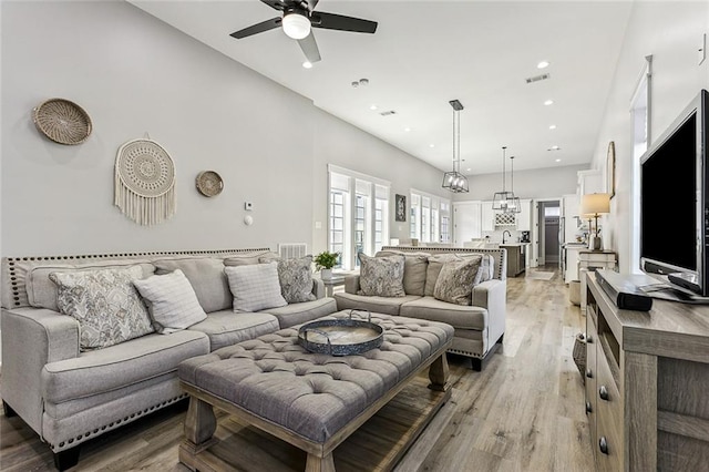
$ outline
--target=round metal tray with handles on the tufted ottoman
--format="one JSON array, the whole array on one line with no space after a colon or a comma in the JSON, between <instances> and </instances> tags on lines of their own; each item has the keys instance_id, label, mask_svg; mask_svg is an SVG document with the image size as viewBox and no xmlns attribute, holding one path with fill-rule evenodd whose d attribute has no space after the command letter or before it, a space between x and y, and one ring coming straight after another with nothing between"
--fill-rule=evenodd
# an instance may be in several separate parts
<instances>
[{"instance_id":1,"label":"round metal tray with handles on the tufted ottoman","mask_svg":"<svg viewBox=\"0 0 709 472\"><path fill-rule=\"evenodd\" d=\"M298 330L298 343L306 350L330 356L350 356L367 352L381 346L384 329L373 324L369 312L367 321L352 319L360 315L350 310L345 319L322 319L307 322Z\"/></svg>"}]
</instances>

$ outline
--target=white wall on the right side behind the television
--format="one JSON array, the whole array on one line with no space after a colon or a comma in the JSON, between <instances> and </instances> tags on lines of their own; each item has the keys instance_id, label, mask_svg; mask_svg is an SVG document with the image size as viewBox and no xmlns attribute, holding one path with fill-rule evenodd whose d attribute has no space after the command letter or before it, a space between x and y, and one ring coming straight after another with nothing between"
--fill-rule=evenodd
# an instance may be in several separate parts
<instances>
[{"instance_id":1,"label":"white wall on the right side behind the television","mask_svg":"<svg viewBox=\"0 0 709 472\"><path fill-rule=\"evenodd\" d=\"M604 245L618 253L621 271L637 270L633 242L630 99L653 55L651 136L658 137L700 89L709 89L709 59L698 65L701 34L709 34L709 2L636 1L606 104L593 167L604 170L608 142L616 146L616 197L604 225Z\"/></svg>"}]
</instances>

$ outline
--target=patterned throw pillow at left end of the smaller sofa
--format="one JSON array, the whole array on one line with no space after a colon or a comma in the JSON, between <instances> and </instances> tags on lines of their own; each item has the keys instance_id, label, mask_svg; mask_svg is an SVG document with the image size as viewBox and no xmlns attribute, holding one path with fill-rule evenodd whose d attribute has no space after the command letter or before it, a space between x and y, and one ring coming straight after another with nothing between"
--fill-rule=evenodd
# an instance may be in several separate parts
<instances>
[{"instance_id":1,"label":"patterned throw pillow at left end of the smaller sofa","mask_svg":"<svg viewBox=\"0 0 709 472\"><path fill-rule=\"evenodd\" d=\"M404 297L403 266L401 255L370 257L359 254L359 295L378 297Z\"/></svg>"}]
</instances>

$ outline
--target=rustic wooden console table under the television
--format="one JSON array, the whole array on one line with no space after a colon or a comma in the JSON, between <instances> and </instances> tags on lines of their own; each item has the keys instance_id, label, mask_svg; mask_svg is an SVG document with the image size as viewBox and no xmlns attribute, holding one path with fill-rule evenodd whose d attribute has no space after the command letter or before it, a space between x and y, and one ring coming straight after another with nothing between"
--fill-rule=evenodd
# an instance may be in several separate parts
<instances>
[{"instance_id":1,"label":"rustic wooden console table under the television","mask_svg":"<svg viewBox=\"0 0 709 472\"><path fill-rule=\"evenodd\" d=\"M709 306L620 310L587 277L586 412L596 469L709 463Z\"/></svg>"}]
</instances>

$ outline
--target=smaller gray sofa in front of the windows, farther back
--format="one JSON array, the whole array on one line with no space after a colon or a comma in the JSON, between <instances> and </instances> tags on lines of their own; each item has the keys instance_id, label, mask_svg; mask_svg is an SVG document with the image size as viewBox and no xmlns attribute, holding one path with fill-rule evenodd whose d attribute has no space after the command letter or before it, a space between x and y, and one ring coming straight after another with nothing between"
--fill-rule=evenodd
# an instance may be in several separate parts
<instances>
[{"instance_id":1,"label":"smaller gray sofa in front of the windows, farther back","mask_svg":"<svg viewBox=\"0 0 709 472\"><path fill-rule=\"evenodd\" d=\"M502 345L505 332L506 250L386 246L376 256L392 254L403 254L405 257L403 274L405 296L358 295L360 278L358 275L350 275L345 279L345 291L333 295L338 310L359 308L452 325L455 336L449 352L470 357L473 369L482 370L497 346ZM471 305L455 305L433 297L433 287L439 274L434 269L433 258L445 254L463 257L470 254L492 256L491 278L473 287Z\"/></svg>"}]
</instances>

